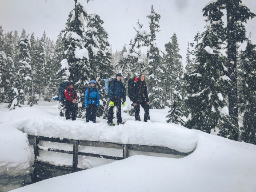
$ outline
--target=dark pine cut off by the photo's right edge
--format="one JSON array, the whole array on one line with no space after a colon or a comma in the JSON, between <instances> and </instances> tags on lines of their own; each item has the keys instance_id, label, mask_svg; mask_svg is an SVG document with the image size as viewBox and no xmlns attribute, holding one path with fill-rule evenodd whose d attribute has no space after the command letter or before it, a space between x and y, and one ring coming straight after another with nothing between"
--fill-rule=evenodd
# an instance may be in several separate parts
<instances>
[{"instance_id":1,"label":"dark pine cut off by the photo's right edge","mask_svg":"<svg viewBox=\"0 0 256 192\"><path fill-rule=\"evenodd\" d=\"M248 40L242 53L243 80L242 90L244 96L244 122L242 140L256 144L256 45Z\"/></svg>"}]
</instances>

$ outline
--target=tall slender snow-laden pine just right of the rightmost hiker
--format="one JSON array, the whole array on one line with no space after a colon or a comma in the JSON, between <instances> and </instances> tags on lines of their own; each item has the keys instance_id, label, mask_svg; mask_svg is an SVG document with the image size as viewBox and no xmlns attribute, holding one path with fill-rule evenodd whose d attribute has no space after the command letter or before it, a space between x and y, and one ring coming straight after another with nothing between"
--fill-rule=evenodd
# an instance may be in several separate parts
<instances>
[{"instance_id":1,"label":"tall slender snow-laden pine just right of the rightmost hiker","mask_svg":"<svg viewBox=\"0 0 256 192\"><path fill-rule=\"evenodd\" d=\"M162 76L164 74L164 66L161 51L157 48L155 43L156 32L159 31L160 15L155 12L152 6L151 14L147 16L150 19L149 28L151 33L151 39L149 45L149 51L147 52L148 58L148 97L150 106L156 109L164 108L164 90L162 83Z\"/></svg>"}]
</instances>

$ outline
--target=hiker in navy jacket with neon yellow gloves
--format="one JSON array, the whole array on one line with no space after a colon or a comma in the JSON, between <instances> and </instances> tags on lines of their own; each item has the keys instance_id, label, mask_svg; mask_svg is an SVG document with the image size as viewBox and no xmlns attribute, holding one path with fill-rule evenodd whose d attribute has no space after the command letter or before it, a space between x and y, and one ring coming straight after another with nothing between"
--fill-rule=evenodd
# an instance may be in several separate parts
<instances>
[{"instance_id":1,"label":"hiker in navy jacket with neon yellow gloves","mask_svg":"<svg viewBox=\"0 0 256 192\"><path fill-rule=\"evenodd\" d=\"M116 106L117 108L117 112L116 112L117 124L122 124L121 104L123 104L123 107L124 107L125 100L126 100L126 89L125 89L125 85L121 80L121 77L122 77L121 73L117 73L116 79L112 81L109 88L110 109L108 111L108 125L110 126L115 125L113 124L114 106Z\"/></svg>"}]
</instances>

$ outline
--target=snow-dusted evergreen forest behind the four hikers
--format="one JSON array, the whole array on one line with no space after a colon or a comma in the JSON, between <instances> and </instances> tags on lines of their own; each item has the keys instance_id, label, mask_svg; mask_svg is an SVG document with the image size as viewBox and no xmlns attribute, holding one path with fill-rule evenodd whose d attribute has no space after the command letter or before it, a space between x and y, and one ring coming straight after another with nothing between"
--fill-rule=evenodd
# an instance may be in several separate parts
<instances>
[{"instance_id":1,"label":"snow-dusted evergreen forest behind the four hikers","mask_svg":"<svg viewBox=\"0 0 256 192\"><path fill-rule=\"evenodd\" d=\"M51 100L60 82L68 79L75 82L78 117L84 118L84 92L94 79L101 96L98 116L105 118L104 78L121 72L127 84L130 76L143 72L151 107L171 108L168 122L256 144L255 35L248 35L244 25L255 20L250 7L240 0L210 1L200 12L205 19L202 31L187 40L182 58L176 33L165 37L164 50L156 44L161 15L153 6L144 16L149 26L137 18L130 26L134 38L113 52L104 20L88 13L87 3L94 4L72 1L73 9L56 41L45 32L36 37L24 29L19 36L16 30L5 32L0 27L0 102L13 110L24 103L37 104L40 97Z\"/></svg>"}]
</instances>

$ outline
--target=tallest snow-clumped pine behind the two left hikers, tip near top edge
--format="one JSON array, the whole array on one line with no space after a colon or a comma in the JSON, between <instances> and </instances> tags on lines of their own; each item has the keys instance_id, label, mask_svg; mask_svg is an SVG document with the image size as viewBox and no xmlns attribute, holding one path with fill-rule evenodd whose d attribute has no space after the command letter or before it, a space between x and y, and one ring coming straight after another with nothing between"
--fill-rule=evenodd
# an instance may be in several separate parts
<instances>
[{"instance_id":1,"label":"tallest snow-clumped pine behind the two left hikers, tip near top edge","mask_svg":"<svg viewBox=\"0 0 256 192\"><path fill-rule=\"evenodd\" d=\"M68 22L62 31L64 50L61 51L62 59L67 59L69 64L70 77L75 84L78 95L78 117L84 118L84 92L90 79L96 76L96 73L90 68L88 62L88 50L85 44L85 22L88 20L87 13L80 3L75 4L75 8L70 12Z\"/></svg>"}]
</instances>

